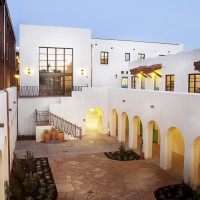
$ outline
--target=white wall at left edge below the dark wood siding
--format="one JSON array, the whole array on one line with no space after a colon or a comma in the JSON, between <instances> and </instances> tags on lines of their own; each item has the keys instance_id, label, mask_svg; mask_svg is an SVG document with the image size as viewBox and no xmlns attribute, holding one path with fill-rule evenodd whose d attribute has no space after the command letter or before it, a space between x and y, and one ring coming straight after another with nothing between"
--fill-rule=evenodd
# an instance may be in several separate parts
<instances>
[{"instance_id":1,"label":"white wall at left edge below the dark wood siding","mask_svg":"<svg viewBox=\"0 0 200 200\"><path fill-rule=\"evenodd\" d=\"M17 137L17 90L15 87L7 89L8 92L8 105L12 110L7 112L7 94L5 91L0 91L0 123L4 124L4 127L0 127L0 153L2 156L1 165L1 177L0 187L2 193L0 194L5 199L4 194L4 181L8 180L9 168L8 160L10 159L10 169L13 159L13 151L15 148L15 141ZM16 103L14 103L16 102ZM9 122L8 122L9 116ZM8 131L10 131L10 158L8 158Z\"/></svg>"}]
</instances>

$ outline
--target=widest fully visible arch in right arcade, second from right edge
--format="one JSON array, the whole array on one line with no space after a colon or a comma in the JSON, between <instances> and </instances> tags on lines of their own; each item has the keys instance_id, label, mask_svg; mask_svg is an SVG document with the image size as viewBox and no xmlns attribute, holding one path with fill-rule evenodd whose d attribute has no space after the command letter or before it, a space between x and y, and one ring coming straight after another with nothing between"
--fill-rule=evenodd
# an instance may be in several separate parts
<instances>
[{"instance_id":1,"label":"widest fully visible arch in right arcade, second from right edge","mask_svg":"<svg viewBox=\"0 0 200 200\"><path fill-rule=\"evenodd\" d=\"M183 176L184 168L184 139L178 128L170 128L166 136L165 158L167 169Z\"/></svg>"}]
</instances>

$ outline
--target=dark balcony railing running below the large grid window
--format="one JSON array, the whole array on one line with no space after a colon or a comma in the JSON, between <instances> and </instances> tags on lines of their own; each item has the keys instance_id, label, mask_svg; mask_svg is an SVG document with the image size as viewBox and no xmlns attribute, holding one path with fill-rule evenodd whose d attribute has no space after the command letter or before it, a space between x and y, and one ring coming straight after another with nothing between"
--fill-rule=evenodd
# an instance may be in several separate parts
<instances>
[{"instance_id":1,"label":"dark balcony railing running below the large grid window","mask_svg":"<svg viewBox=\"0 0 200 200\"><path fill-rule=\"evenodd\" d=\"M47 96L72 96L72 91L82 91L86 86L20 86L18 88L19 97L47 97Z\"/></svg>"}]
</instances>

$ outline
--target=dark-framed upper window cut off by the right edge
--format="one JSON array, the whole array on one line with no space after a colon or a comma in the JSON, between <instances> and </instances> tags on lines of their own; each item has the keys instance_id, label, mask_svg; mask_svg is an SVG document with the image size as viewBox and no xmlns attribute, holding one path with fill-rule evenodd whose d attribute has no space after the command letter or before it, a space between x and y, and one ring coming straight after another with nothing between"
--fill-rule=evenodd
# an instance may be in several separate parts
<instances>
[{"instance_id":1,"label":"dark-framed upper window cut off by the right edge","mask_svg":"<svg viewBox=\"0 0 200 200\"><path fill-rule=\"evenodd\" d=\"M200 93L200 74L189 74L189 93Z\"/></svg>"}]
</instances>

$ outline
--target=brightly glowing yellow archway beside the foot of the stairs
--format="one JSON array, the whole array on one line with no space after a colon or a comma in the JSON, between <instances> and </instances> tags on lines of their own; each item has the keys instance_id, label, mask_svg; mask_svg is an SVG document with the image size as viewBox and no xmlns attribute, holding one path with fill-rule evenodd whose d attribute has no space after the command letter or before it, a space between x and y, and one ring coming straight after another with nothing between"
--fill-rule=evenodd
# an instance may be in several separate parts
<instances>
[{"instance_id":1,"label":"brightly glowing yellow archway beside the foot of the stairs","mask_svg":"<svg viewBox=\"0 0 200 200\"><path fill-rule=\"evenodd\" d=\"M97 134L103 132L103 112L99 108L91 108L86 113L86 134Z\"/></svg>"}]
</instances>

